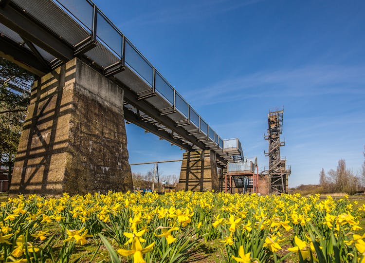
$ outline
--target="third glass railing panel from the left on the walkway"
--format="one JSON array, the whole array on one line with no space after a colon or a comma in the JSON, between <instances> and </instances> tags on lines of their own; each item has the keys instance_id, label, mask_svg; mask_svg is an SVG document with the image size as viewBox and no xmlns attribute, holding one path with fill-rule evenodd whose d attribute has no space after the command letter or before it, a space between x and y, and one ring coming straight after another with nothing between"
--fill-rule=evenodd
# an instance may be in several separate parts
<instances>
[{"instance_id":1,"label":"third glass railing panel from the left on the walkway","mask_svg":"<svg viewBox=\"0 0 365 263\"><path fill-rule=\"evenodd\" d=\"M141 75L151 86L153 82L152 66L126 41L126 62L139 75Z\"/></svg>"}]
</instances>

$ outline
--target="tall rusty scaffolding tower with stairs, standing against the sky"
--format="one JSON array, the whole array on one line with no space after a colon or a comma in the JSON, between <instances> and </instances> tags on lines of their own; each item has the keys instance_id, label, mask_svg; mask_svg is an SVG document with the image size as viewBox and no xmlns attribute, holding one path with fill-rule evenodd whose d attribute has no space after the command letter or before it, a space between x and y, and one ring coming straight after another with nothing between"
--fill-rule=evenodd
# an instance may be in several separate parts
<instances>
[{"instance_id":1,"label":"tall rusty scaffolding tower with stairs, standing against the sky","mask_svg":"<svg viewBox=\"0 0 365 263\"><path fill-rule=\"evenodd\" d=\"M269 177L269 193L288 193L288 178L292 173L291 167L287 167L286 158L280 156L280 147L285 145L285 141L280 141L280 134L283 132L284 110L270 111L268 114L269 129L264 135L269 141L269 150L265 151L265 156L269 156L269 169L265 174Z\"/></svg>"}]
</instances>

